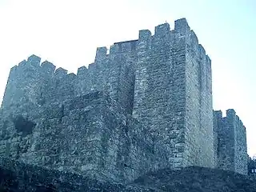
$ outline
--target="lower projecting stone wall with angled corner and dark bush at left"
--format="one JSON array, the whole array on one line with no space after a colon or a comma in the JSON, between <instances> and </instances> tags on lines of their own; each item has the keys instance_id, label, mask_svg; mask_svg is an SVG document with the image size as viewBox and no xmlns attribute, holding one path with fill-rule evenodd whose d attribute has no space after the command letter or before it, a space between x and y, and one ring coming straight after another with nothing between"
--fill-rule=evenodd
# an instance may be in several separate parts
<instances>
[{"instance_id":1,"label":"lower projecting stone wall with angled corner and dark bush at left","mask_svg":"<svg viewBox=\"0 0 256 192\"><path fill-rule=\"evenodd\" d=\"M161 146L160 153L152 150L148 130L102 92L41 106L30 117L6 115L1 156L115 182L166 164Z\"/></svg>"}]
</instances>

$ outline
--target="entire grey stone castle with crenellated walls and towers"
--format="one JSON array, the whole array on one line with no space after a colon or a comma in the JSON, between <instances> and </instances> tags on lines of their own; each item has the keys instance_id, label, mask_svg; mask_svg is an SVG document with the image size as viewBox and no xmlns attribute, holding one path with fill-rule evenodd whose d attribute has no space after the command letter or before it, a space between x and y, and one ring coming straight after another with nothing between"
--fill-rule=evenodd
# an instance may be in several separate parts
<instances>
[{"instance_id":1,"label":"entire grey stone castle with crenellated walls and towers","mask_svg":"<svg viewBox=\"0 0 256 192\"><path fill-rule=\"evenodd\" d=\"M77 74L31 55L10 70L0 155L129 182L206 166L247 174L246 129L213 112L211 61L185 18L99 47Z\"/></svg>"}]
</instances>

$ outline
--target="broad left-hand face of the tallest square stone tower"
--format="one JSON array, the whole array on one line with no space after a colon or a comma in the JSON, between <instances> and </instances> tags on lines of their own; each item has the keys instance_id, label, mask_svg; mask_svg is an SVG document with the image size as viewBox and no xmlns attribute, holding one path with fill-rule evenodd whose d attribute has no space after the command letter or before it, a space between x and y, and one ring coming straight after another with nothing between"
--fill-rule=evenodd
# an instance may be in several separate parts
<instances>
[{"instance_id":1,"label":"broad left-hand face of the tallest square stone tower","mask_svg":"<svg viewBox=\"0 0 256 192\"><path fill-rule=\"evenodd\" d=\"M135 66L134 111L169 151L170 166L180 167L184 151L185 41L168 23L140 31Z\"/></svg>"}]
</instances>

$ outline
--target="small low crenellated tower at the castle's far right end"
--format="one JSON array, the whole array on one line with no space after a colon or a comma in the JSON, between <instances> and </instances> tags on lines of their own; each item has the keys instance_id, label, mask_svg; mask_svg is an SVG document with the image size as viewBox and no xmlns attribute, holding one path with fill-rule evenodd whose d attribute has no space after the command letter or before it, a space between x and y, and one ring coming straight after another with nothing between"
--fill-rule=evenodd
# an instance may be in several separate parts
<instances>
[{"instance_id":1,"label":"small low crenellated tower at the castle's far right end","mask_svg":"<svg viewBox=\"0 0 256 192\"><path fill-rule=\"evenodd\" d=\"M214 111L214 130L218 168L247 174L246 127L235 111L226 110L226 117L222 117L222 111Z\"/></svg>"}]
</instances>

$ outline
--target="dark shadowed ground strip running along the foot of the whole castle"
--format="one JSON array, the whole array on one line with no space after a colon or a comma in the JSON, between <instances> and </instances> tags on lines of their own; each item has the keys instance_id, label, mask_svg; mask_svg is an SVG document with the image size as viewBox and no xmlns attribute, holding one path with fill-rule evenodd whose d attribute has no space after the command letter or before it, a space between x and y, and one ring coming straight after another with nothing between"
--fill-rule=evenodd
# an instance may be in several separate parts
<instances>
[{"instance_id":1,"label":"dark shadowed ground strip running along the foot of the whole castle","mask_svg":"<svg viewBox=\"0 0 256 192\"><path fill-rule=\"evenodd\" d=\"M255 192L256 182L242 174L202 167L158 170L124 185L46 170L7 158L0 158L0 191L170 191L170 192Z\"/></svg>"}]
</instances>

